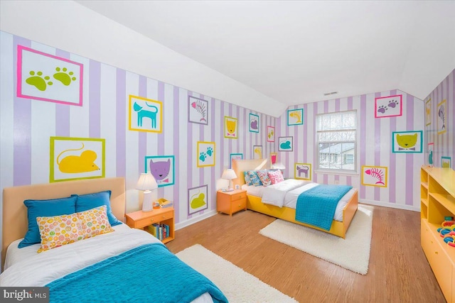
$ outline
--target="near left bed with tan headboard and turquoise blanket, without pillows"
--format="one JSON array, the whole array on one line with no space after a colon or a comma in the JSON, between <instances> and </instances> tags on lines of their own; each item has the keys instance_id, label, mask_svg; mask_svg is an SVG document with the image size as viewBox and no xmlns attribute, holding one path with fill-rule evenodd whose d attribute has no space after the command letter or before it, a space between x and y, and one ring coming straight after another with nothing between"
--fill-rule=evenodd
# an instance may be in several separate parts
<instances>
[{"instance_id":1,"label":"near left bed with tan headboard and turquoise blanket, without pillows","mask_svg":"<svg viewBox=\"0 0 455 303\"><path fill-rule=\"evenodd\" d=\"M112 191L110 211L123 221L123 178L4 189L2 260L6 260L0 286L47 286L50 302L227 302L213 282L179 260L154 236L121 222L112 224L112 232L41 253L37 250L43 243L18 248L30 231L30 226L24 227L30 216L24 200L103 190Z\"/></svg>"}]
</instances>

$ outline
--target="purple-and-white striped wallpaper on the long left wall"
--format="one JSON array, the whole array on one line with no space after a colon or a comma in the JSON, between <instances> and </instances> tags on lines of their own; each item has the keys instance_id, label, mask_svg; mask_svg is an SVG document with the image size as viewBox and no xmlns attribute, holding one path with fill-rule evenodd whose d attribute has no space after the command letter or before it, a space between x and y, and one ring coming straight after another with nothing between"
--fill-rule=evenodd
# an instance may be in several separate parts
<instances>
[{"instance_id":1,"label":"purple-and-white striped wallpaper on the long left wall","mask_svg":"<svg viewBox=\"0 0 455 303\"><path fill-rule=\"evenodd\" d=\"M51 136L105 138L105 176L125 177L127 212L139 209L139 192L134 189L144 172L146 155L175 156L175 184L160 187L158 197L174 202L176 223L197 219L216 209L216 189L230 162L230 153L252 158L252 145L262 145L263 155L274 151L267 143L267 126L275 126L272 116L203 96L181 87L121 70L102 62L80 57L41 43L0 31L1 39L1 189L17 185L49 182ZM16 97L16 50L24 45L84 65L83 105L70 106ZM128 130L129 95L163 102L162 133ZM188 123L188 96L208 101L208 126ZM248 130L249 114L259 115L259 133ZM224 138L224 116L237 118L238 138ZM215 142L215 166L196 166L196 143ZM208 184L208 209L188 216L191 187Z\"/></svg>"}]
</instances>

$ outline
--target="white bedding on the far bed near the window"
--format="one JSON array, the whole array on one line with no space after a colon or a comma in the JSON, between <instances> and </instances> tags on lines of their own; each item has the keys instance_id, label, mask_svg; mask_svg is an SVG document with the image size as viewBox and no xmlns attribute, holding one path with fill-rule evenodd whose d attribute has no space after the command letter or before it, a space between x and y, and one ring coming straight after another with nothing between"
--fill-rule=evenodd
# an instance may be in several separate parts
<instances>
[{"instance_id":1,"label":"white bedding on the far bed near the window","mask_svg":"<svg viewBox=\"0 0 455 303\"><path fill-rule=\"evenodd\" d=\"M275 186L278 184L279 186ZM262 202L264 204L272 204L278 207L285 206L291 209L295 209L299 194L315 187L316 185L318 185L318 183L304 180L287 179L283 182L279 182L267 187L252 185L248 186L246 184L243 184L242 189L245 189L247 191L247 194L262 198ZM349 199L353 196L354 192L355 188L352 188L341 198L336 206L333 220L340 222L343 221L343 209L346 204L348 204Z\"/></svg>"}]
</instances>

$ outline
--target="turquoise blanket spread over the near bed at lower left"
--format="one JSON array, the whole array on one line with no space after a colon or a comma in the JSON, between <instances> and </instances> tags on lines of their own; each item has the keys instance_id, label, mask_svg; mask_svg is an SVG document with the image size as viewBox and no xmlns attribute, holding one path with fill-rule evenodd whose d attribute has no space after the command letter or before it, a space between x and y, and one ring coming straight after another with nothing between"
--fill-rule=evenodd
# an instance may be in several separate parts
<instances>
[{"instance_id":1,"label":"turquoise blanket spread over the near bed at lower left","mask_svg":"<svg viewBox=\"0 0 455 303\"><path fill-rule=\"evenodd\" d=\"M45 286L50 302L191 302L205 292L213 302L228 302L213 282L161 243L133 248Z\"/></svg>"}]
</instances>

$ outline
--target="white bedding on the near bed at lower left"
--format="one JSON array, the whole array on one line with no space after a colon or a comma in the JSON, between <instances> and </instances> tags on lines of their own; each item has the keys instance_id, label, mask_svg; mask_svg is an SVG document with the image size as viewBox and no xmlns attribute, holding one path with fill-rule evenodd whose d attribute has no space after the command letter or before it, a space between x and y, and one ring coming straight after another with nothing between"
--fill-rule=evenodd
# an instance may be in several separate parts
<instances>
[{"instance_id":1,"label":"white bedding on the near bed at lower left","mask_svg":"<svg viewBox=\"0 0 455 303\"><path fill-rule=\"evenodd\" d=\"M77 241L59 248L36 253L40 244L17 248L14 241L8 248L8 268L0 275L0 286L44 286L65 275L147 243L161 243L146 231L129 228L126 224L113 226L112 233ZM164 245L164 244L163 244ZM5 263L6 264L6 263ZM213 302L205 293L193 302Z\"/></svg>"}]
</instances>

